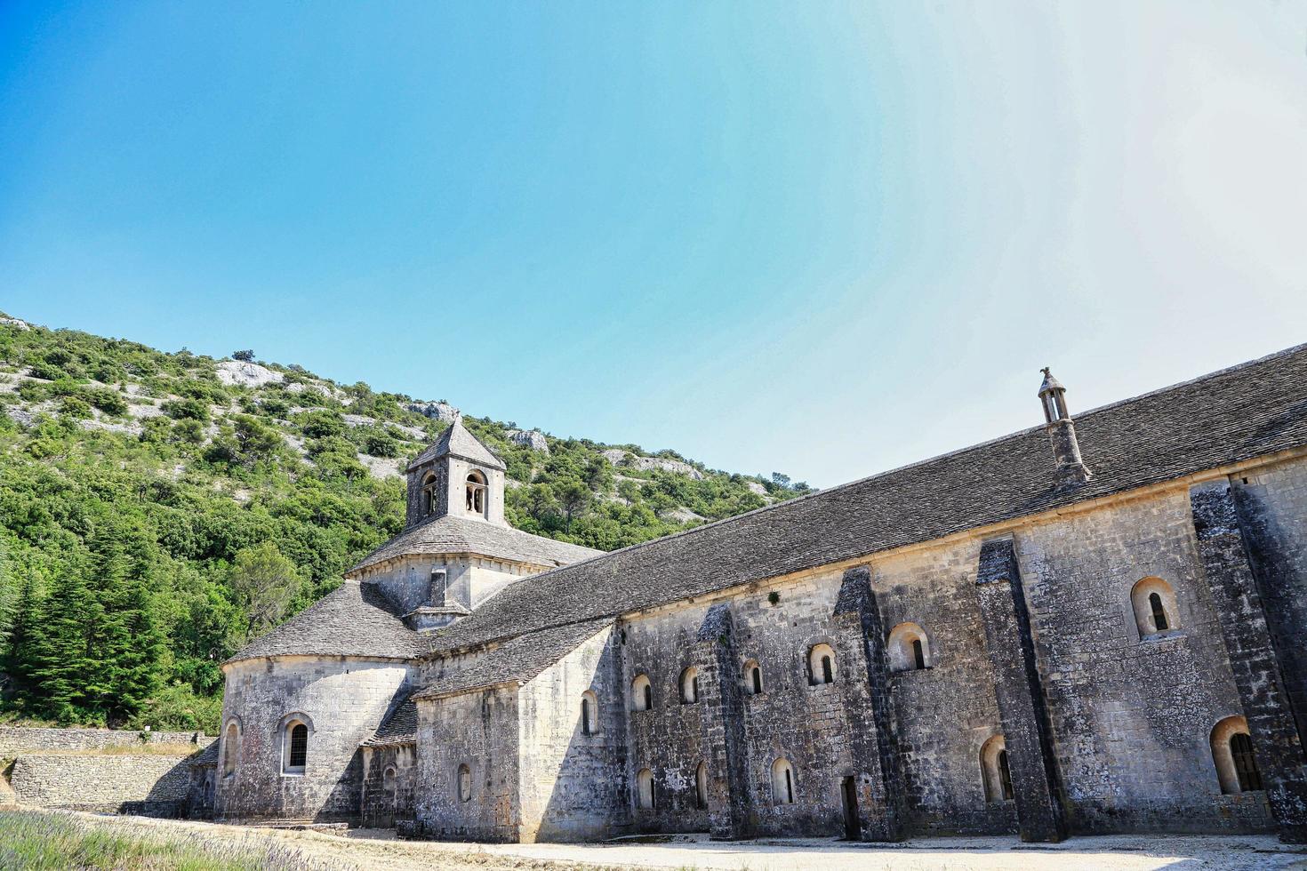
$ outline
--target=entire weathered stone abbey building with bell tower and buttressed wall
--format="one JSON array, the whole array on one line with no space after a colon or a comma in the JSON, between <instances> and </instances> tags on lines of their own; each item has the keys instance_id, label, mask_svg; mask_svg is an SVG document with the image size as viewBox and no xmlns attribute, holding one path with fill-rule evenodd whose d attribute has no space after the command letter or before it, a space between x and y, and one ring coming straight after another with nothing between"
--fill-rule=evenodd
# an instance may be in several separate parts
<instances>
[{"instance_id":1,"label":"entire weathered stone abbey building with bell tower and buttressed wall","mask_svg":"<svg viewBox=\"0 0 1307 871\"><path fill-rule=\"evenodd\" d=\"M225 663L213 815L1307 840L1307 345L1074 420L1051 375L1039 400L612 554L508 526L455 422L404 531Z\"/></svg>"}]
</instances>

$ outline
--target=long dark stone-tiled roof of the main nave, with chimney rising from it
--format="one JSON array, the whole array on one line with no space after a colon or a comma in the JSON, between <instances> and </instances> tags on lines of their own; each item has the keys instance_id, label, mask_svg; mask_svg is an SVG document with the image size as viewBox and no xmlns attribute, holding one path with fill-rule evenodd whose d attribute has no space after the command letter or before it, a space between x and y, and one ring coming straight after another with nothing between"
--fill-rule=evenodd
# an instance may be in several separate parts
<instances>
[{"instance_id":1,"label":"long dark stone-tiled roof of the main nave, with chimney rising from it","mask_svg":"<svg viewBox=\"0 0 1307 871\"><path fill-rule=\"evenodd\" d=\"M1307 445L1307 345L1081 414L1076 430L1093 473L1076 487L1056 486L1040 424L536 575L427 641L440 653L613 618Z\"/></svg>"}]
</instances>

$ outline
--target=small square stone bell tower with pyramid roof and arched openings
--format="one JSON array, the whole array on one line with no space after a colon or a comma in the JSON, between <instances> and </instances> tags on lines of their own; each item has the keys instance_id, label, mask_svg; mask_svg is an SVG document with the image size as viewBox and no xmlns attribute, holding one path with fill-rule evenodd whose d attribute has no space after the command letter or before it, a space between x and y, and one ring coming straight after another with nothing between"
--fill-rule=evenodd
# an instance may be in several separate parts
<instances>
[{"instance_id":1,"label":"small square stone bell tower with pyramid roof and arched openings","mask_svg":"<svg viewBox=\"0 0 1307 871\"><path fill-rule=\"evenodd\" d=\"M450 428L408 466L408 522L439 517L507 526L503 517L505 465L455 415Z\"/></svg>"}]
</instances>

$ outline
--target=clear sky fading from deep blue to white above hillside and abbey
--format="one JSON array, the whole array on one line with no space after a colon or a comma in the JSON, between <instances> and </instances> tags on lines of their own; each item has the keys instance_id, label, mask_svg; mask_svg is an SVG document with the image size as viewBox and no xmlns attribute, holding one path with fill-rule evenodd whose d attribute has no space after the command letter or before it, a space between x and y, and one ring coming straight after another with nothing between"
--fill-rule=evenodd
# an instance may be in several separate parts
<instances>
[{"instance_id":1,"label":"clear sky fading from deep blue to white above hillside and abbey","mask_svg":"<svg viewBox=\"0 0 1307 871\"><path fill-rule=\"evenodd\" d=\"M0 309L830 486L1307 341L1307 3L0 3Z\"/></svg>"}]
</instances>

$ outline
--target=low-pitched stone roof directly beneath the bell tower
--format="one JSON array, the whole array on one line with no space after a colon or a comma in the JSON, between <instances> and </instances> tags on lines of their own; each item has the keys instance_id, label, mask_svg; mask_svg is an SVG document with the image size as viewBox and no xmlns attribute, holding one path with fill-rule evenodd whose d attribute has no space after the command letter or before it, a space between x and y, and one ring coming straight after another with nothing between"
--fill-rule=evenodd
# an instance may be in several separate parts
<instances>
[{"instance_id":1,"label":"low-pitched stone roof directly beneath the bell tower","mask_svg":"<svg viewBox=\"0 0 1307 871\"><path fill-rule=\"evenodd\" d=\"M603 554L591 547L532 535L512 526L501 526L468 517L431 517L410 526L365 556L346 575L409 555L480 554L531 565L567 565Z\"/></svg>"}]
</instances>

